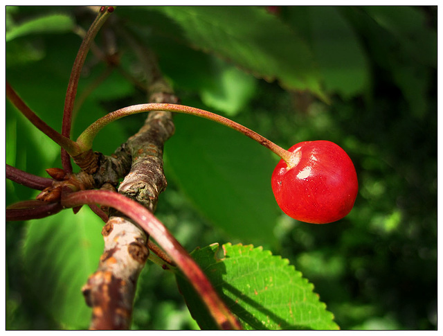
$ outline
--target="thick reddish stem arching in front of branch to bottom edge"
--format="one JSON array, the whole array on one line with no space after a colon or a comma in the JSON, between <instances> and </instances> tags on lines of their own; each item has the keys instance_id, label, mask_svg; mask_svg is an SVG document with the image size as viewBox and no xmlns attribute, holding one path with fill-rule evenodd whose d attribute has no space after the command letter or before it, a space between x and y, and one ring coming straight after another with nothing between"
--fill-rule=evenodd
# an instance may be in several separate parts
<instances>
[{"instance_id":1,"label":"thick reddish stem arching in front of branch to bottom edge","mask_svg":"<svg viewBox=\"0 0 443 336\"><path fill-rule=\"evenodd\" d=\"M220 328L239 329L242 326L232 315L223 301L215 292L197 263L180 243L172 236L166 227L144 206L134 200L112 191L78 191L62 195L61 204L64 207L75 207L82 204L101 204L110 206L141 226L152 238L159 243L163 250L172 258L181 272L188 278L195 290L201 296L211 315Z\"/></svg>"}]
</instances>

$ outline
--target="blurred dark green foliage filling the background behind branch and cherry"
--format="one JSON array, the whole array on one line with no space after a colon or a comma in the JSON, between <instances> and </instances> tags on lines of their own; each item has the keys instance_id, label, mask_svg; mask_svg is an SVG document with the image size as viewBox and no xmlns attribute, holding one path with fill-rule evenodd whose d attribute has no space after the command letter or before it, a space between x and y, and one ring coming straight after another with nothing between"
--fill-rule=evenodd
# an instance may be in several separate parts
<instances>
[{"instance_id":1,"label":"blurred dark green foliage filling the background behind branch and cherry","mask_svg":"<svg viewBox=\"0 0 443 336\"><path fill-rule=\"evenodd\" d=\"M237 27L242 32L238 39L243 42L242 38L247 39L250 33L244 30L248 20L242 13L247 9L241 8L240 12L229 9L231 15L221 16L217 22L221 25L232 20L235 25L230 26L229 32L235 36ZM248 143L249 139L220 130L219 125L180 116L176 118L177 137L165 146L168 189L160 197L156 215L189 251L213 242L242 242L262 245L274 255L288 258L314 283L321 301L334 313L342 329L435 329L436 8L289 7L279 8L275 16L264 8L252 10L258 22L281 21L277 31L284 29L284 36L297 36L291 48L302 44L309 51L303 51L303 62L315 64L312 71L304 74L308 76L307 89L309 83L319 82L320 94L316 85L312 84L311 89L316 96L327 99L318 100L312 92L287 85L285 90L278 82L255 79L252 73L258 78L270 78L269 71L278 69L274 77L284 85L287 78L292 80L293 74L286 73L285 78L280 78L281 69L273 68L275 64L260 73L256 64L262 60L248 69L245 60L260 58L260 54L246 53L247 44L230 48L228 42L233 40L222 39L226 33L222 25L220 30L204 35L206 30L195 27L194 21L189 23L189 17L174 21L170 14L173 8L123 7L114 14L122 27L156 53L163 73L183 104L228 114L283 147L314 139L341 145L350 154L359 176L359 196L354 209L333 224L291 220L275 203L269 204L273 201L269 198L269 180L277 162L273 155L255 143ZM197 13L198 9L193 11ZM217 15L217 10L206 15L207 27L210 15ZM42 19L45 16L50 18L46 22L51 22L47 29L38 26L45 22ZM54 29L51 19L62 19L64 25ZM6 44L6 77L30 107L57 130L61 127L69 73L81 41L69 31L72 19L86 29L93 15L76 7L6 8L7 32L15 37ZM27 35L23 27L34 27L39 33L30 35L32 31L28 31ZM192 27L195 34L190 33ZM21 30L14 33L15 28ZM259 25L251 31L260 34L261 30L269 33L274 29ZM121 67L141 78L134 53L125 39L116 36ZM214 47L208 37L217 39L216 49L211 49ZM279 39L279 35L273 37L274 48L287 42ZM264 52L266 40L257 37L256 41L260 43L254 42L253 50ZM97 43L99 46L104 43L100 34ZM277 50L264 57L278 64L279 55ZM285 67L290 56L282 56ZM240 64L236 63L237 57ZM104 71L105 65L89 55L80 81L80 94ZM73 135L78 136L84 127L107 112L144 101L143 92L114 72L85 98L75 119ZM99 134L94 149L111 154L138 130L143 118L132 116L109 125ZM209 143L217 146L217 150ZM251 149L256 153L254 157L238 150L254 146ZM192 152L194 149L198 151ZM262 160L254 161L257 158ZM254 164L248 166L249 161ZM40 176L45 176L45 168L60 167L57 146L34 130L9 103L6 104L6 163ZM205 169L208 167L210 170ZM199 179L207 171L217 173ZM248 179L255 176L264 176L264 180ZM198 184L199 181L203 182ZM6 183L6 204L35 195L36 191ZM257 204L246 202L248 197L260 200ZM266 206L260 205L263 201ZM233 205L227 205L236 202L239 206L231 213ZM57 225L69 220L73 227L75 223L80 228L94 225L86 213L81 216L66 213L64 218ZM263 231L257 223L260 220L266 222ZM42 228L47 222L39 221ZM35 276L36 272L30 272L29 263L24 262L26 246L30 246L28 233L37 228L36 224L26 222L6 223L6 328L87 328L87 320L61 321L42 299L42 293L53 295L51 290L38 292L46 281ZM51 251L48 246L54 249L67 239L68 235L53 236L46 237L40 245L34 242L35 255L44 255L45 251ZM83 253L80 249L73 251ZM39 264L33 261L33 267L38 268ZM81 297L80 288L71 288L70 292L78 292ZM133 328L197 328L174 277L150 263L138 282Z\"/></svg>"}]
</instances>

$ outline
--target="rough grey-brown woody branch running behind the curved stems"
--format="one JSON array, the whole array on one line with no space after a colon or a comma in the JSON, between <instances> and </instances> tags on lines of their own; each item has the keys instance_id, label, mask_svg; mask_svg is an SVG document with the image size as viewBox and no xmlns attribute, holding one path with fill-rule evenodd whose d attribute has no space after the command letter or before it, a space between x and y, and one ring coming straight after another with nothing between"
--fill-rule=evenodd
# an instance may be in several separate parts
<instances>
[{"instance_id":1,"label":"rough grey-brown woody branch running behind the curved stems","mask_svg":"<svg viewBox=\"0 0 443 336\"><path fill-rule=\"evenodd\" d=\"M155 94L150 100L177 103L171 94ZM123 174L125 179L118 192L153 212L167 184L163 174L163 145L173 133L170 112L150 112L145 125L111 157L96 153L98 168L93 173L94 182L116 185ZM113 209L110 215L102 230L105 249L100 264L82 289L87 304L93 308L91 329L129 328L136 282L149 255L146 233Z\"/></svg>"}]
</instances>

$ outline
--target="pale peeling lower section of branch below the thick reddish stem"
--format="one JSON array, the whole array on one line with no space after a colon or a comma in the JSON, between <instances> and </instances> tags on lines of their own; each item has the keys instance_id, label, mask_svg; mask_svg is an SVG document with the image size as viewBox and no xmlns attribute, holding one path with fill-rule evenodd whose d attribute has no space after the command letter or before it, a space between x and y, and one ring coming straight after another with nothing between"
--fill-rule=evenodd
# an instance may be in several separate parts
<instances>
[{"instance_id":1,"label":"pale peeling lower section of branch below the thick reddish stem","mask_svg":"<svg viewBox=\"0 0 443 336\"><path fill-rule=\"evenodd\" d=\"M102 235L105 251L98 269L82 288L93 309L90 328L127 329L137 278L149 255L147 237L143 230L120 217L111 217Z\"/></svg>"}]
</instances>

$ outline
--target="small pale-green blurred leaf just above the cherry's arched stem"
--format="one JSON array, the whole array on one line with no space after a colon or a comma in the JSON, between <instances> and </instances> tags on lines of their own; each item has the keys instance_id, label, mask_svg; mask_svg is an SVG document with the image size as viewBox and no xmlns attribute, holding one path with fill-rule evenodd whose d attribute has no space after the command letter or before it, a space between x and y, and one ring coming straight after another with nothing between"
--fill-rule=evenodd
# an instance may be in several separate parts
<instances>
[{"instance_id":1,"label":"small pale-green blurred leaf just above the cherry's arched stem","mask_svg":"<svg viewBox=\"0 0 443 336\"><path fill-rule=\"evenodd\" d=\"M226 62L215 59L213 85L201 87L201 100L208 106L233 116L255 93L256 80Z\"/></svg>"}]
</instances>

